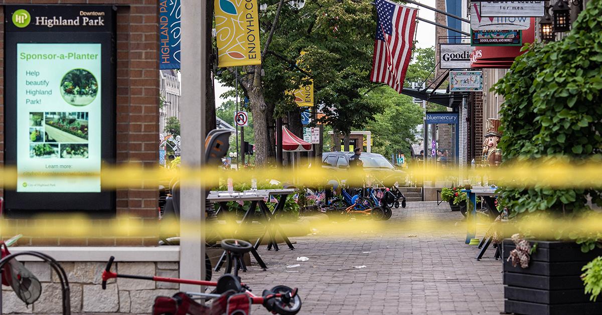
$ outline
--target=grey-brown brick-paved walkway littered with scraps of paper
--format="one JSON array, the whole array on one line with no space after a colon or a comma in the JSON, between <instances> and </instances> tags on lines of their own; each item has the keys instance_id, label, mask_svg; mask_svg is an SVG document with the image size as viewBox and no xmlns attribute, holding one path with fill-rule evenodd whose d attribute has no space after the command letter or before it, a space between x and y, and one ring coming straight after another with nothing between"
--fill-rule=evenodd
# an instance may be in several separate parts
<instances>
[{"instance_id":1,"label":"grey-brown brick-paved walkway littered with scraps of paper","mask_svg":"<svg viewBox=\"0 0 602 315\"><path fill-rule=\"evenodd\" d=\"M504 298L495 249L483 260L474 260L477 246L464 243L462 214L450 211L447 203L408 202L406 208L393 209L386 224L407 223L418 216L457 223L445 231L314 231L291 238L294 251L261 246L259 254L268 270L253 264L240 276L257 295L276 284L298 287L299 314L500 314ZM485 225L480 225L477 236L484 232ZM298 262L297 257L309 260ZM300 266L287 268L294 264ZM255 305L253 313L267 311Z\"/></svg>"}]
</instances>

